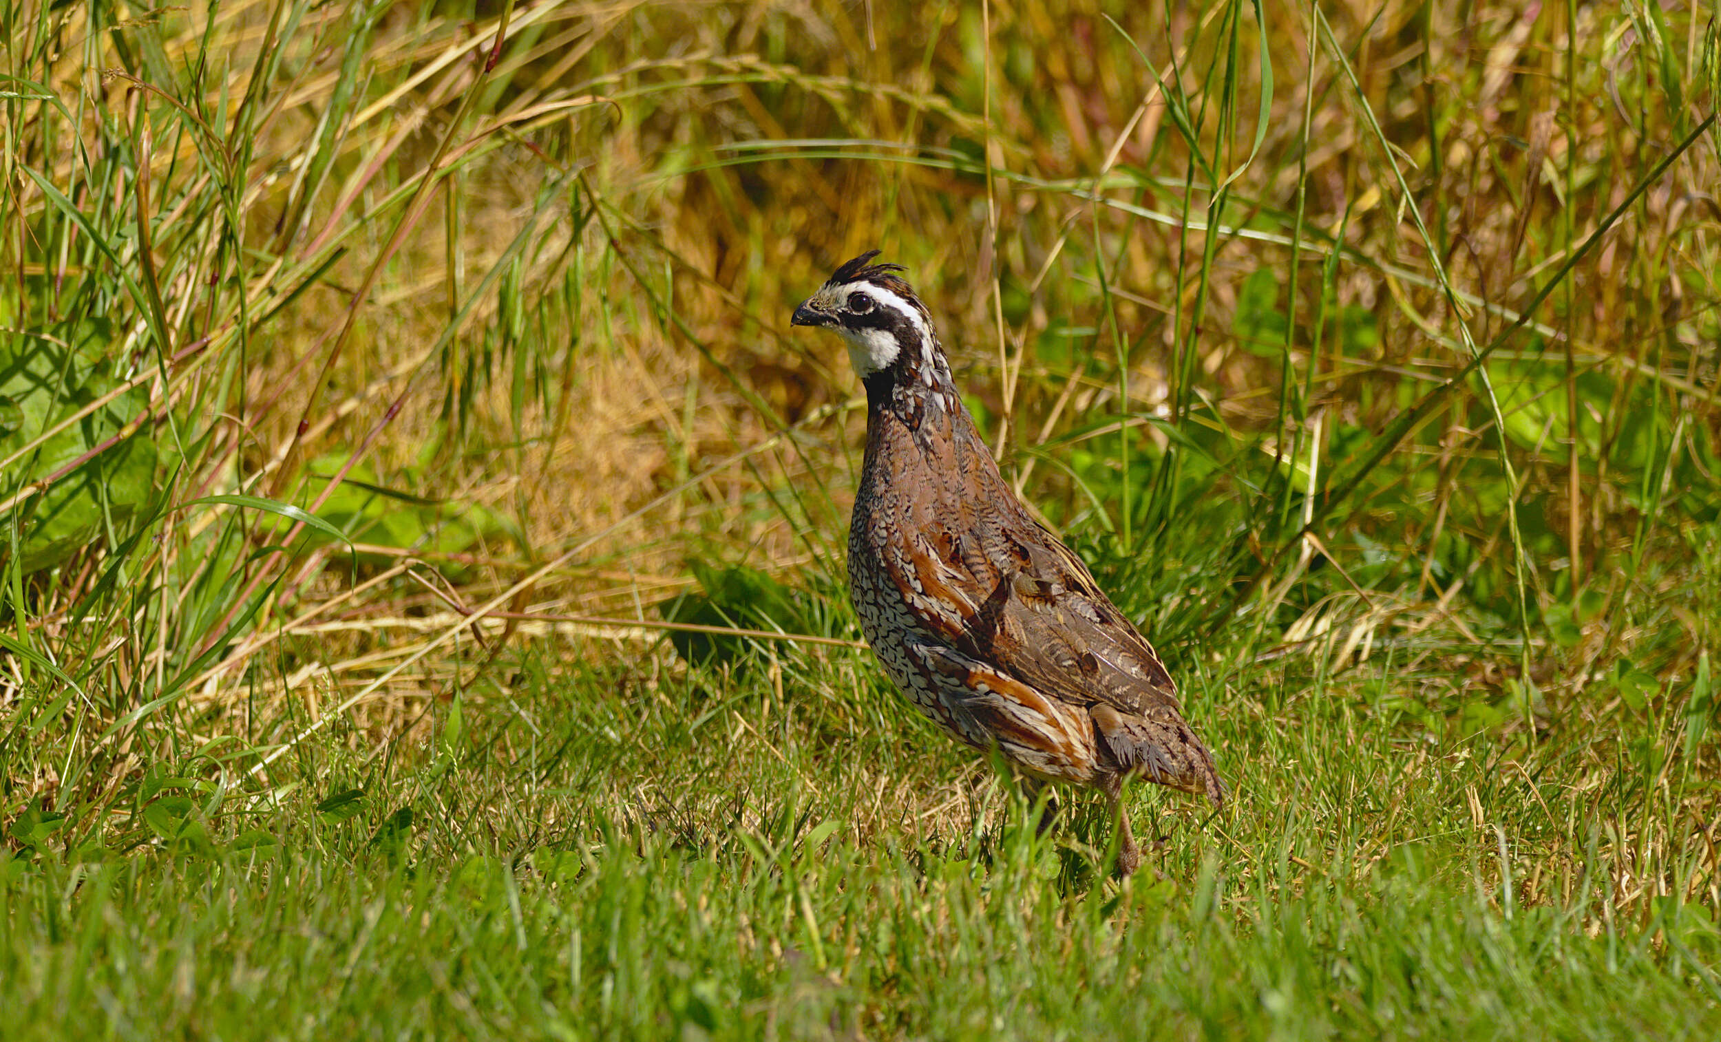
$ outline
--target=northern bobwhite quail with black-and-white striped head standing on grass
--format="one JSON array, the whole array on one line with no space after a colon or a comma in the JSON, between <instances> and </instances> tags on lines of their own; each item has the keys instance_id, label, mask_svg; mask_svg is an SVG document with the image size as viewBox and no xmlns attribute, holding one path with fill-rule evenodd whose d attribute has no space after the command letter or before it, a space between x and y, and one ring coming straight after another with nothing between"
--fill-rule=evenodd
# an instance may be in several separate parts
<instances>
[{"instance_id":1,"label":"northern bobwhite quail with black-and-white striped head standing on grass","mask_svg":"<svg viewBox=\"0 0 1721 1042\"><path fill-rule=\"evenodd\" d=\"M885 672L950 736L1041 781L1098 788L1117 867L1141 863L1122 781L1205 793L1213 757L1177 686L1088 567L998 475L902 265L862 253L790 320L835 330L867 395L848 595Z\"/></svg>"}]
</instances>

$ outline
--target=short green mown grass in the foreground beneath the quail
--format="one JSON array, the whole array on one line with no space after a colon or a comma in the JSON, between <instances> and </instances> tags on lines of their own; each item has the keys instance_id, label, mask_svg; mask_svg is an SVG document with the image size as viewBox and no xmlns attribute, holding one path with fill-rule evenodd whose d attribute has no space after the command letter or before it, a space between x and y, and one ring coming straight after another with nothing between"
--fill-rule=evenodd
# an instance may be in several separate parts
<instances>
[{"instance_id":1,"label":"short green mown grass in the foreground beneath the quail","mask_svg":"<svg viewBox=\"0 0 1721 1042\"><path fill-rule=\"evenodd\" d=\"M1237 806L1138 798L1165 844L1119 887L1083 844L1105 841L1096 808L1036 839L833 659L780 703L719 676L647 691L563 669L468 702L485 724L418 770L305 763L363 789L351 817L315 813L332 793L229 794L203 820L260 829L250 849L14 860L0 975L29 1030L9 1037L1721 1027L1707 908L1619 903L1609 873L1644 805L1564 784L1582 753L1506 765L1487 739L1409 741L1354 698L1224 708L1193 684ZM399 806L413 829L389 829ZM1687 879L1707 855L1649 856Z\"/></svg>"}]
</instances>

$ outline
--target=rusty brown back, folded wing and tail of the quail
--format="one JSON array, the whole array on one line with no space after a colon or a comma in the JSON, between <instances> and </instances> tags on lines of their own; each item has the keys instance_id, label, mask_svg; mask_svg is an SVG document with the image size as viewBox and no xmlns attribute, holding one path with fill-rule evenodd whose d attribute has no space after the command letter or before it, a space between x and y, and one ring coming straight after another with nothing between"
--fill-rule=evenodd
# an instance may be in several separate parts
<instances>
[{"instance_id":1,"label":"rusty brown back, folded wing and tail of the quail","mask_svg":"<svg viewBox=\"0 0 1721 1042\"><path fill-rule=\"evenodd\" d=\"M1098 739L1101 770L1139 770L1220 803L1213 758L1151 645L1027 514L967 416L947 421L953 430L916 432L917 452L905 456L924 468L917 476L929 493L881 493L874 511L898 533L881 564L919 629L955 655L945 665L1007 681L976 672L969 679L984 683L986 696L960 712L1000 741L1017 731L1017 745L1053 758ZM1012 695L1019 690L1026 695Z\"/></svg>"}]
</instances>

